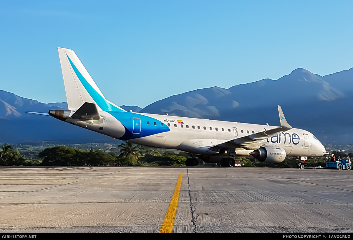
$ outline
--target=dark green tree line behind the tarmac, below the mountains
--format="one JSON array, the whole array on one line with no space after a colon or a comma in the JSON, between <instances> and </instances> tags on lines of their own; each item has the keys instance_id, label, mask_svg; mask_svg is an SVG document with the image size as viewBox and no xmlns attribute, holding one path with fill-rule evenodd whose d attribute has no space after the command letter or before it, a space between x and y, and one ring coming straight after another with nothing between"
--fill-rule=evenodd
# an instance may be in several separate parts
<instances>
[{"instance_id":1,"label":"dark green tree line behind the tarmac, below the mountains","mask_svg":"<svg viewBox=\"0 0 353 240\"><path fill-rule=\"evenodd\" d=\"M153 148L133 145L131 142L118 146L119 153L107 154L101 150L84 151L78 148L55 146L46 148L38 154L38 159L28 159L12 146L5 144L0 149L0 166L42 165L42 166L185 166L187 153L175 154L173 151L158 152ZM336 156L352 157L353 153L336 153ZM287 157L282 163L266 164L254 158L235 158L246 167L296 168L298 160ZM325 166L326 158L309 158L307 166Z\"/></svg>"}]
</instances>

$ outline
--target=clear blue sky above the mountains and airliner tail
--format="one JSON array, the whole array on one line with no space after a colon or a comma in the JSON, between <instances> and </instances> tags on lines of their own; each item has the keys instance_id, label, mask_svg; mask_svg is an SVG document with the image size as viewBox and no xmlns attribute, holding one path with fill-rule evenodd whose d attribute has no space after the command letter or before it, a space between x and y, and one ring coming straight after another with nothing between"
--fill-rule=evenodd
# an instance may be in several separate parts
<instances>
[{"instance_id":1,"label":"clear blue sky above the mountains and airliner tail","mask_svg":"<svg viewBox=\"0 0 353 240\"><path fill-rule=\"evenodd\" d=\"M353 67L352 1L0 0L0 89L66 101L57 47L106 98L145 107L198 88Z\"/></svg>"}]
</instances>

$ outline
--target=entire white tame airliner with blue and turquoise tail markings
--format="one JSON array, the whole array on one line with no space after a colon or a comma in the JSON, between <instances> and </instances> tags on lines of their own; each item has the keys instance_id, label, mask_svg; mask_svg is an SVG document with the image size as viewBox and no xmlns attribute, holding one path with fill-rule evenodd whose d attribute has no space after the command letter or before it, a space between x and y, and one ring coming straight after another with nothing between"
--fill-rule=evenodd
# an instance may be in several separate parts
<instances>
[{"instance_id":1,"label":"entire white tame airliner with blue and turquoise tail markings","mask_svg":"<svg viewBox=\"0 0 353 240\"><path fill-rule=\"evenodd\" d=\"M134 144L188 152L187 166L197 166L199 159L234 166L237 156L280 163L286 156L325 154L313 134L287 123L280 106L280 127L127 112L104 98L74 51L58 51L68 110L49 115L67 123Z\"/></svg>"}]
</instances>

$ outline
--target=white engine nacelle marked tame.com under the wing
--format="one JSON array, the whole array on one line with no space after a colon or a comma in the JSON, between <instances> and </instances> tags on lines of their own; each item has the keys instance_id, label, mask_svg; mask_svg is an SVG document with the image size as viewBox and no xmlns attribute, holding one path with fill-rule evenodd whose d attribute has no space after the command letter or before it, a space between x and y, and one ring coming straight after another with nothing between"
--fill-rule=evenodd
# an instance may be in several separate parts
<instances>
[{"instance_id":1,"label":"white engine nacelle marked tame.com under the wing","mask_svg":"<svg viewBox=\"0 0 353 240\"><path fill-rule=\"evenodd\" d=\"M264 163L281 163L286 158L286 151L278 146L263 146L250 154Z\"/></svg>"}]
</instances>

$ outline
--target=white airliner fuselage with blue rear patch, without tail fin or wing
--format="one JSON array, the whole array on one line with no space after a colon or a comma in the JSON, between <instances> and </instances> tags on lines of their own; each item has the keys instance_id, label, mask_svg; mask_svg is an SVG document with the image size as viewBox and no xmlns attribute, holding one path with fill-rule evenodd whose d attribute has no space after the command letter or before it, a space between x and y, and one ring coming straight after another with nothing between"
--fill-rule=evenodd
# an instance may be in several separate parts
<instances>
[{"instance_id":1,"label":"white airliner fuselage with blue rear patch, without tail fin or wing","mask_svg":"<svg viewBox=\"0 0 353 240\"><path fill-rule=\"evenodd\" d=\"M220 149L210 150L210 148L225 144L228 152L233 151L237 153L236 156L249 156L253 150L237 148L229 144L227 146L226 142L276 128L269 125L148 113L101 111L100 114L102 119L98 121L67 118L66 122L135 144L175 149L192 154L217 154ZM287 156L314 157L325 154L323 145L313 134L298 128L259 142L261 146L280 146L286 151Z\"/></svg>"}]
</instances>

